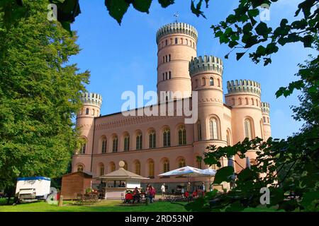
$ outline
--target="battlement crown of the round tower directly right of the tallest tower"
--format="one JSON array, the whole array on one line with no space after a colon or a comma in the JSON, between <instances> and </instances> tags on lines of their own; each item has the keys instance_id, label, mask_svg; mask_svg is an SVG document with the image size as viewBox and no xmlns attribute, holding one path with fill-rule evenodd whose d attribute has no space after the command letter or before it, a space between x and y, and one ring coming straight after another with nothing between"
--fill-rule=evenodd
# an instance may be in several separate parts
<instances>
[{"instance_id":1,"label":"battlement crown of the round tower directly right of the tallest tower","mask_svg":"<svg viewBox=\"0 0 319 226\"><path fill-rule=\"evenodd\" d=\"M194 76L203 71L215 71L223 74L223 61L218 57L203 56L195 57L189 62L189 73Z\"/></svg>"}]
</instances>

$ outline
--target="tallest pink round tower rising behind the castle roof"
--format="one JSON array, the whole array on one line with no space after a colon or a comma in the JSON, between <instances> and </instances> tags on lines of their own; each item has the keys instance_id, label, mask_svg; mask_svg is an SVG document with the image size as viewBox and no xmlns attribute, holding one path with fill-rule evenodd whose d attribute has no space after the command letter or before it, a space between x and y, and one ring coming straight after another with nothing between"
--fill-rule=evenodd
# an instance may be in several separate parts
<instances>
[{"instance_id":1,"label":"tallest pink round tower rising behind the castle roof","mask_svg":"<svg viewBox=\"0 0 319 226\"><path fill-rule=\"evenodd\" d=\"M197 30L186 23L169 23L157 31L159 102L191 97L189 61L196 57L197 38ZM177 91L181 96L172 95Z\"/></svg>"}]
</instances>

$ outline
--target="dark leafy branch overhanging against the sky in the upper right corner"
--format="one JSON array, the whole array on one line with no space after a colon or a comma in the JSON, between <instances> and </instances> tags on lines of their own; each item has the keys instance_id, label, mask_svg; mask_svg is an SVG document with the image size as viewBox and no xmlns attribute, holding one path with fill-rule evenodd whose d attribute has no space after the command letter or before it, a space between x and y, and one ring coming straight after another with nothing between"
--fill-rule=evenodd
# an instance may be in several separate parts
<instances>
[{"instance_id":1,"label":"dark leafy branch overhanging against the sky in the upper right corner","mask_svg":"<svg viewBox=\"0 0 319 226\"><path fill-rule=\"evenodd\" d=\"M298 4L298 10L295 17L303 12L303 18L294 20L289 24L286 18L281 20L277 28L269 28L267 23L258 22L259 8L263 4L271 6L279 0L240 0L240 4L234 9L224 21L218 25L212 25L215 37L218 37L220 43L228 44L233 52L235 49L243 49L245 52L237 53L239 60L252 47L255 50L251 52L250 58L256 64L261 59L264 65L272 62L272 54L279 51L279 46L291 42L302 42L304 47L311 47L314 42L313 35L318 33L319 28L319 8L316 7L318 0L305 0ZM225 58L229 57L228 53Z\"/></svg>"}]
</instances>

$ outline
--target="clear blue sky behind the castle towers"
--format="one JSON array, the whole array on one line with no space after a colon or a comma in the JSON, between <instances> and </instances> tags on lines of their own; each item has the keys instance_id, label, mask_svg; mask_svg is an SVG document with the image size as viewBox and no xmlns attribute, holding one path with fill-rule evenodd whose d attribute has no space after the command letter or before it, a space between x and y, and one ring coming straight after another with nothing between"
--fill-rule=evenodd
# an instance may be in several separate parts
<instances>
[{"instance_id":1,"label":"clear blue sky behind the castle towers","mask_svg":"<svg viewBox=\"0 0 319 226\"><path fill-rule=\"evenodd\" d=\"M279 25L281 18L294 15L300 0L281 0L270 8L269 26ZM226 82L235 79L251 79L262 85L262 101L271 105L272 136L286 138L298 131L301 122L292 119L291 105L298 105L298 93L288 98L276 99L275 93L281 86L296 80L298 63L307 59L310 49L302 44L288 44L272 56L273 63L264 67L254 64L246 55L236 61L235 52L224 59L229 52L227 45L221 45L213 37L211 25L224 20L237 6L237 1L211 0L204 10L206 18L197 18L190 10L191 0L177 0L176 4L162 8L153 0L150 14L140 13L133 6L125 13L121 26L108 15L104 1L80 1L82 13L72 24L77 30L77 43L82 51L71 58L80 71L91 71L90 92L103 97L102 114L121 111L121 94L125 90L137 92L138 85L144 91L155 90L157 82L157 44L155 34L162 25L174 22L174 13L179 12L179 22L194 25L198 30L198 56L207 54L220 57L224 62L223 89Z\"/></svg>"}]
</instances>

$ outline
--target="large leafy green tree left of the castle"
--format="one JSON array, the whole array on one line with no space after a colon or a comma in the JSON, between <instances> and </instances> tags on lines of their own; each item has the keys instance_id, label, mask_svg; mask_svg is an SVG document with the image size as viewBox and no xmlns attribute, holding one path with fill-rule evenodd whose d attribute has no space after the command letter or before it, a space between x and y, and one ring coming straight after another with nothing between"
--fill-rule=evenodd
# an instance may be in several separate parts
<instances>
[{"instance_id":1,"label":"large leafy green tree left of the castle","mask_svg":"<svg viewBox=\"0 0 319 226\"><path fill-rule=\"evenodd\" d=\"M0 13L0 187L65 173L77 145L72 117L89 78L68 64L77 37L47 20L47 2L23 5L26 16L14 26Z\"/></svg>"}]
</instances>

